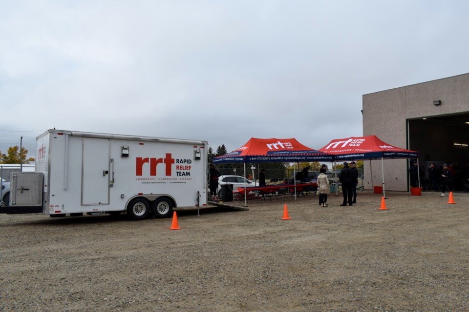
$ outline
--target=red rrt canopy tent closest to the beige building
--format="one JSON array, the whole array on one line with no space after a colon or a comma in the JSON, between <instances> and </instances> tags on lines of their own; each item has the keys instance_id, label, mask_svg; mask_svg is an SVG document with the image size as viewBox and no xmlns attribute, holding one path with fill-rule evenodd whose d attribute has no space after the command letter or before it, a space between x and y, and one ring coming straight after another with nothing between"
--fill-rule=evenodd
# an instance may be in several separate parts
<instances>
[{"instance_id":1,"label":"red rrt canopy tent closest to the beige building","mask_svg":"<svg viewBox=\"0 0 469 312\"><path fill-rule=\"evenodd\" d=\"M381 158L381 168L383 173L383 195L384 191L384 165L383 159L399 159L399 158L417 158L418 153L393 146L376 136L367 137L347 137L334 139L319 150L320 152L334 155L334 160L356 160ZM418 178L420 185L420 176ZM373 184L373 175L371 175L371 183Z\"/></svg>"}]
</instances>

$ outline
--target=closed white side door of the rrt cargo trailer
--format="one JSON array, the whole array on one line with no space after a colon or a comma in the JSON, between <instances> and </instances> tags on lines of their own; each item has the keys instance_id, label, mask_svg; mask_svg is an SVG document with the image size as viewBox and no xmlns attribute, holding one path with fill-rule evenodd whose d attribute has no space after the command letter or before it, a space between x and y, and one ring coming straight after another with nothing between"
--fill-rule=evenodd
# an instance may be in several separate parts
<instances>
[{"instance_id":1,"label":"closed white side door of the rrt cargo trailer","mask_svg":"<svg viewBox=\"0 0 469 312\"><path fill-rule=\"evenodd\" d=\"M84 137L82 153L82 205L108 205L110 141Z\"/></svg>"}]
</instances>

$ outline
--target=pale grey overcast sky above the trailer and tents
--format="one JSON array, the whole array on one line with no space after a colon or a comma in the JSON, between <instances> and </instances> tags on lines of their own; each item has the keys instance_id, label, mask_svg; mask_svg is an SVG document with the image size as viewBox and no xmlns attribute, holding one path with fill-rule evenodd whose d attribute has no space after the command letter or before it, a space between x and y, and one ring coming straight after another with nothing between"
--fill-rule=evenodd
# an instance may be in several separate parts
<instances>
[{"instance_id":1,"label":"pale grey overcast sky above the trailer and tents","mask_svg":"<svg viewBox=\"0 0 469 312\"><path fill-rule=\"evenodd\" d=\"M320 149L362 95L469 72L469 1L0 0L0 150L46 129Z\"/></svg>"}]
</instances>

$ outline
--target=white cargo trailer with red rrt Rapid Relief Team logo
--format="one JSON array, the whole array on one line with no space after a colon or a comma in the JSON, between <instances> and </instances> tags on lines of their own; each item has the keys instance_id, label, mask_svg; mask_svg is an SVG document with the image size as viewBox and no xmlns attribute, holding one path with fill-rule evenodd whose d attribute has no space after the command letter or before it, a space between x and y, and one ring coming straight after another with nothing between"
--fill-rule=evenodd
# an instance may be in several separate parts
<instances>
[{"instance_id":1,"label":"white cargo trailer with red rrt Rapid Relief Team logo","mask_svg":"<svg viewBox=\"0 0 469 312\"><path fill-rule=\"evenodd\" d=\"M207 205L207 141L50 129L35 173L13 173L2 213L169 217Z\"/></svg>"}]
</instances>

